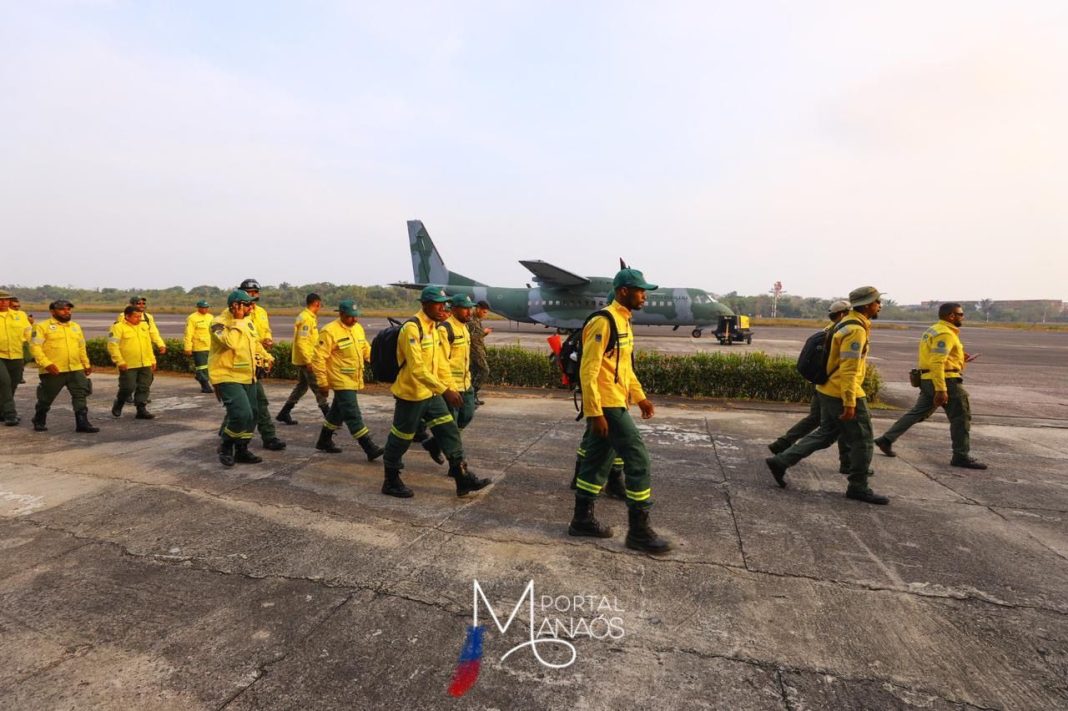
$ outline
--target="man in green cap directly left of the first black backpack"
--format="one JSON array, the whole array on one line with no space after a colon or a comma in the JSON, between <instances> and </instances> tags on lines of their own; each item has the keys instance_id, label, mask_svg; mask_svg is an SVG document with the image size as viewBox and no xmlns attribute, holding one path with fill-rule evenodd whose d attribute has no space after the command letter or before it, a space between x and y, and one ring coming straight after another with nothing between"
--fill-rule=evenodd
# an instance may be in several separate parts
<instances>
[{"instance_id":1,"label":"man in green cap directly left of the first black backpack","mask_svg":"<svg viewBox=\"0 0 1068 711\"><path fill-rule=\"evenodd\" d=\"M333 433L344 424L367 455L367 461L374 461L382 456L384 449L371 438L356 396L357 391L363 390L363 364L371 360L371 344L363 327L357 321L359 315L356 301L343 299L337 304L337 320L328 323L318 334L318 344L310 363L316 394L325 398L326 393L333 390L334 399L315 448L330 454L341 452L333 443Z\"/></svg>"}]
</instances>

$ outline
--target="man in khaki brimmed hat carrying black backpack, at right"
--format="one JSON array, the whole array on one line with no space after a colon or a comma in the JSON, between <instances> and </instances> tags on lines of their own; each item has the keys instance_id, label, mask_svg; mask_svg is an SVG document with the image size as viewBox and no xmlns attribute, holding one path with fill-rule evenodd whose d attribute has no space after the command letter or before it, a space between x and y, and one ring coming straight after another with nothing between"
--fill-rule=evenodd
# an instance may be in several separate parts
<instances>
[{"instance_id":1,"label":"man in khaki brimmed hat carrying black backpack, at right","mask_svg":"<svg viewBox=\"0 0 1068 711\"><path fill-rule=\"evenodd\" d=\"M816 385L819 429L774 457L765 459L775 484L786 488L786 470L808 455L831 446L839 437L849 449L849 487L846 496L866 504L889 504L890 499L868 487L871 465L871 415L864 393L868 333L879 317L882 295L874 286L849 293L852 311L831 329L827 357L828 379Z\"/></svg>"}]
</instances>

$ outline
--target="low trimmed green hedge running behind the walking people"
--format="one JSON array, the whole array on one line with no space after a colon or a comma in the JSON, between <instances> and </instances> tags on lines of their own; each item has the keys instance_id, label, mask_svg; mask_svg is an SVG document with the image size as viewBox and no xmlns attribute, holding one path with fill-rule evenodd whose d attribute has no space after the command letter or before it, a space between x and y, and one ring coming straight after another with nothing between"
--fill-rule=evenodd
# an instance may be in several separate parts
<instances>
[{"instance_id":1,"label":"low trimmed green hedge running behind the walking people","mask_svg":"<svg viewBox=\"0 0 1068 711\"><path fill-rule=\"evenodd\" d=\"M290 363L289 342L282 341L271 349L274 370L271 377L295 380L297 372ZM89 360L93 365L110 366L107 339L88 342ZM519 388L561 388L560 370L546 353L519 346L487 348L490 384ZM182 341L167 339L167 352L160 357L159 369L192 373L192 359L182 354ZM722 397L747 400L807 402L813 388L797 370L795 360L765 353L694 353L666 356L639 351L635 358L638 377L650 395L682 395L685 397ZM374 382L370 372L367 382ZM868 365L864 390L868 400L879 397L882 378L874 365Z\"/></svg>"}]
</instances>

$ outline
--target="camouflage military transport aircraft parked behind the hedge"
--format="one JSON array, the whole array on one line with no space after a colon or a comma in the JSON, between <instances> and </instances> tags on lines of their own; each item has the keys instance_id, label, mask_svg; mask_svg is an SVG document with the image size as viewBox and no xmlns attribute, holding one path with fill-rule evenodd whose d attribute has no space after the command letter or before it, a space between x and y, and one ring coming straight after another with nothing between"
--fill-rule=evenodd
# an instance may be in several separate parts
<instances>
[{"instance_id":1,"label":"camouflage military transport aircraft parked behind the hedge","mask_svg":"<svg viewBox=\"0 0 1068 711\"><path fill-rule=\"evenodd\" d=\"M540 259L520 259L534 274L533 288L488 286L449 271L430 235L420 220L408 221L408 244L415 281L395 286L421 289L440 284L445 291L466 294L474 301L484 299L490 310L513 321L541 323L560 330L582 327L586 316L604 305L612 293L611 276L579 276ZM529 285L528 285L529 286ZM633 322L641 326L693 326L693 336L703 328L714 327L718 318L732 311L703 289L661 286L646 294L645 307L634 312Z\"/></svg>"}]
</instances>

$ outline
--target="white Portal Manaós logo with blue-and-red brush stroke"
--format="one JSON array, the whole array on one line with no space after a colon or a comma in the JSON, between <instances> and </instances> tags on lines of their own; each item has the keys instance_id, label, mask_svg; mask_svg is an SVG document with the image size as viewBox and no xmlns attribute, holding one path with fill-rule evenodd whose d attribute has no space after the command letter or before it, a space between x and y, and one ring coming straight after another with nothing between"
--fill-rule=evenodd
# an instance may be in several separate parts
<instances>
[{"instance_id":1,"label":"white Portal Mana\u00f3s logo with blue-and-red brush stroke","mask_svg":"<svg viewBox=\"0 0 1068 711\"><path fill-rule=\"evenodd\" d=\"M513 653L530 647L534 659L550 669L564 669L575 664L579 658L574 642L583 637L591 639L622 639L624 636L624 610L614 597L603 595L543 595L534 592L534 581L527 583L519 601L512 609L508 619L501 625L500 617L486 598L478 581L473 583L471 625L467 628L467 636L460 650L456 672L453 674L449 693L452 696L462 696L474 682L478 680L482 668L483 643L486 628L478 623L478 609L484 606L497 630L506 634L516 615L522 610L523 601L529 605L527 639L503 654L504 662ZM547 648L546 655L538 648ZM553 649L554 648L554 649ZM553 649L553 651L548 651Z\"/></svg>"}]
</instances>

